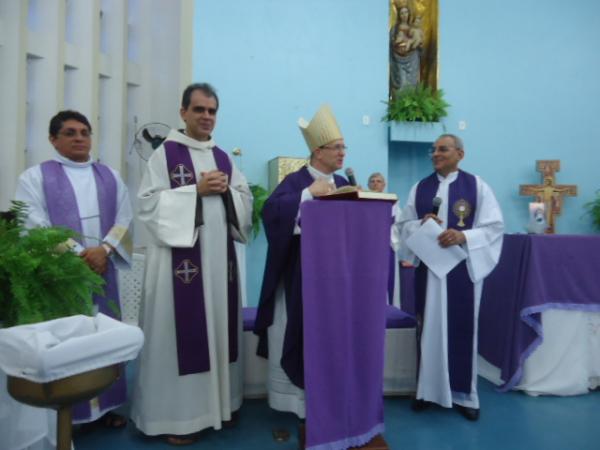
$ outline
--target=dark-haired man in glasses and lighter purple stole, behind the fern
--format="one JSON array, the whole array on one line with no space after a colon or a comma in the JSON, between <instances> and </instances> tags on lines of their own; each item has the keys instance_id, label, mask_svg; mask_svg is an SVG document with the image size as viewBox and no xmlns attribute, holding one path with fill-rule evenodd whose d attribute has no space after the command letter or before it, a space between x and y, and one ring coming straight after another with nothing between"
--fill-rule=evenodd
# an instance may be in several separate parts
<instances>
[{"instance_id":1,"label":"dark-haired man in glasses and lighter purple stole, behind the fern","mask_svg":"<svg viewBox=\"0 0 600 450\"><path fill-rule=\"evenodd\" d=\"M106 282L104 296L93 298L95 308L120 319L112 302L119 304L115 268L128 269L131 264L132 211L127 187L117 171L90 156L92 127L83 114L59 112L50 120L49 134L57 154L21 174L15 198L28 206L27 227L60 225L77 232L68 246ZM76 405L73 422L102 417L105 426L122 428L126 419L111 411L126 400L123 376L97 401Z\"/></svg>"}]
</instances>

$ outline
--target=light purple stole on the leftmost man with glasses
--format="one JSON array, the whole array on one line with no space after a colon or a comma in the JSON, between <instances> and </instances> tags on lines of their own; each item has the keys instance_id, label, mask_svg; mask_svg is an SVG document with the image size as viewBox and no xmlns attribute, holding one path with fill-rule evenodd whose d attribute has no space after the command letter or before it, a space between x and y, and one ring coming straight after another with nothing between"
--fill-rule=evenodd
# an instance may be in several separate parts
<instances>
[{"instance_id":1,"label":"light purple stole on the leftmost man with glasses","mask_svg":"<svg viewBox=\"0 0 600 450\"><path fill-rule=\"evenodd\" d=\"M46 161L41 164L42 187L48 208L50 223L54 226L63 226L75 231L75 239L83 244L83 229L75 191L65 174L63 166L58 161ZM98 209L100 212L100 231L106 236L115 224L117 217L117 180L110 169L100 163L93 163L92 170L96 181L98 195ZM108 260L106 272L102 275L105 281L104 295L94 295L93 302L98 306L98 311L114 319L120 320L109 307L113 301L119 305L119 291L117 276L113 262ZM113 408L125 402L127 390L125 377L120 377L104 394L99 397L101 410ZM73 408L73 417L76 420L89 418L91 415L89 402L82 402Z\"/></svg>"}]
</instances>

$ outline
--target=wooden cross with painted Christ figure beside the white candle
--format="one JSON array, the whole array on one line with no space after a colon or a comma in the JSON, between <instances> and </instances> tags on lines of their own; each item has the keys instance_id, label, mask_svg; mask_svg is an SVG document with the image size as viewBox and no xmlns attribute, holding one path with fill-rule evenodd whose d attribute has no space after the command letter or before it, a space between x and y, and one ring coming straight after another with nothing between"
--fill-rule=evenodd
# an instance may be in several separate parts
<instances>
[{"instance_id":1,"label":"wooden cross with painted Christ figure beside the white candle","mask_svg":"<svg viewBox=\"0 0 600 450\"><path fill-rule=\"evenodd\" d=\"M522 184L519 194L535 196L537 202L546 205L546 234L554 234L554 219L562 211L563 196L576 196L577 186L555 184L554 175L560 171L560 160L539 160L535 163L536 170L542 174L542 184Z\"/></svg>"}]
</instances>

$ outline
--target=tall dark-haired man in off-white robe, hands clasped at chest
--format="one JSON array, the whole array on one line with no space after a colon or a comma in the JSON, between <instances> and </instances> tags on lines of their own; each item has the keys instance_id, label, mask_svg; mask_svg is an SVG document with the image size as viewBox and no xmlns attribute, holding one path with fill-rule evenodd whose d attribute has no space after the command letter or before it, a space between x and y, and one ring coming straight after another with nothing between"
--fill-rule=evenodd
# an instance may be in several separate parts
<instances>
[{"instance_id":1,"label":"tall dark-haired man in off-white robe, hands clasped at chest","mask_svg":"<svg viewBox=\"0 0 600 450\"><path fill-rule=\"evenodd\" d=\"M132 420L147 435L191 444L198 432L233 425L242 403L242 320L234 240L251 228L244 175L212 136L219 99L188 86L180 116L148 160L138 199L151 236L146 251L146 336Z\"/></svg>"}]
</instances>

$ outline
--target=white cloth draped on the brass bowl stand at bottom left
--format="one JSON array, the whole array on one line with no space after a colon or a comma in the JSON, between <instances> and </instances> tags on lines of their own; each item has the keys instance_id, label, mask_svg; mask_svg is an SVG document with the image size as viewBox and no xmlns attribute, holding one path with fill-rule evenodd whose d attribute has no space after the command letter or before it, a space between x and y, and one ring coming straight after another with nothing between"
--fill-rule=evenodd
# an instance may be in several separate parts
<instances>
[{"instance_id":1,"label":"white cloth draped on the brass bowl stand at bottom left","mask_svg":"<svg viewBox=\"0 0 600 450\"><path fill-rule=\"evenodd\" d=\"M0 330L0 450L56 446L56 412L12 399L6 374L47 383L135 359L142 331L104 314Z\"/></svg>"}]
</instances>

